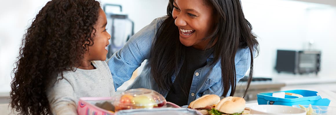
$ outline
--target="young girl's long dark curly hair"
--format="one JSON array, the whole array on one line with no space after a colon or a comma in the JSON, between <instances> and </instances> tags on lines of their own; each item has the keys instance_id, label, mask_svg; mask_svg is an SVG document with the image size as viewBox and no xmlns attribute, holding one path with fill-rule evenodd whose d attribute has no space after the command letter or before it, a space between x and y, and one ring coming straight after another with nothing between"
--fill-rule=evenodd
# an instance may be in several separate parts
<instances>
[{"instance_id":1,"label":"young girl's long dark curly hair","mask_svg":"<svg viewBox=\"0 0 336 115\"><path fill-rule=\"evenodd\" d=\"M50 113L46 87L62 71L75 71L93 44L99 9L95 0L51 0L39 11L24 35L12 71L13 110L22 115Z\"/></svg>"}]
</instances>

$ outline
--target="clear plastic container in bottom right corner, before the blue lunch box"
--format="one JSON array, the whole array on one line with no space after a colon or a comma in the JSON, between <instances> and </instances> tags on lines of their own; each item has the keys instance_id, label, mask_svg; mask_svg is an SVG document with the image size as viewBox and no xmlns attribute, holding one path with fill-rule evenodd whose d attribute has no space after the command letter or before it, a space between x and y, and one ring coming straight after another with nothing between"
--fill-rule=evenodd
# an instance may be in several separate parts
<instances>
[{"instance_id":1,"label":"clear plastic container in bottom right corner, before the blue lunch box","mask_svg":"<svg viewBox=\"0 0 336 115\"><path fill-rule=\"evenodd\" d=\"M309 107L309 105L302 106L305 108ZM293 105L293 107L300 108L299 105ZM313 113L311 113L310 115L336 115L336 107L312 105L311 108L313 109Z\"/></svg>"}]
</instances>

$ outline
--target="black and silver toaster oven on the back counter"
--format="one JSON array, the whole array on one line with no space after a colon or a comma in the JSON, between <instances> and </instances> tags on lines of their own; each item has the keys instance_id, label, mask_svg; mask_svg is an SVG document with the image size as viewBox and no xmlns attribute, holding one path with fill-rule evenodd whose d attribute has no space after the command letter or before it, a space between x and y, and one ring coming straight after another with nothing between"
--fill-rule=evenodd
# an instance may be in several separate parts
<instances>
[{"instance_id":1,"label":"black and silver toaster oven on the back counter","mask_svg":"<svg viewBox=\"0 0 336 115\"><path fill-rule=\"evenodd\" d=\"M294 74L316 73L320 71L321 51L277 50L275 69Z\"/></svg>"}]
</instances>

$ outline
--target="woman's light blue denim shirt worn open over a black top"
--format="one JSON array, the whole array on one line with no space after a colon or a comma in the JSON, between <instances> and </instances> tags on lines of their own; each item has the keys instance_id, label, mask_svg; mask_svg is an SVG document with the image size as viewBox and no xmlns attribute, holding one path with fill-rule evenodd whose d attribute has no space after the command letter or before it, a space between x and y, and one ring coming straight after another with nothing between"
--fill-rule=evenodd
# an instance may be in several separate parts
<instances>
[{"instance_id":1,"label":"woman's light blue denim shirt worn open over a black top","mask_svg":"<svg viewBox=\"0 0 336 115\"><path fill-rule=\"evenodd\" d=\"M155 35L166 17L156 18L151 24L142 28L134 34L122 49L113 54L109 59L108 65L114 80L114 86L117 90L125 81L129 80L133 71L141 63L148 59L144 65L141 74L134 80L128 89L147 88L159 92L164 97L169 91L159 90L159 87L151 74L150 51ZM223 94L221 82L221 65L220 61L215 65L210 65L213 60L213 54L208 57L207 65L197 69L194 72L192 85L190 87L188 104L205 94ZM235 56L235 66L237 82L245 76L250 67L251 57L249 48L238 49ZM181 64L182 65L182 64ZM181 67L181 66L180 66ZM174 82L176 75L172 76ZM237 83L236 83L237 84ZM230 95L231 88L226 96Z\"/></svg>"}]
</instances>

